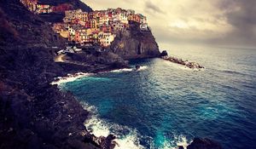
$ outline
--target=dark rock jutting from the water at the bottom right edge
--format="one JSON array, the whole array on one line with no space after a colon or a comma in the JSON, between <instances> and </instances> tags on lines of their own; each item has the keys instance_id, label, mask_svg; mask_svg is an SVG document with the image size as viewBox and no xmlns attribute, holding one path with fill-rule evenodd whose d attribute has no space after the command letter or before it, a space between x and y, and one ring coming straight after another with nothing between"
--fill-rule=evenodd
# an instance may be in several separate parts
<instances>
[{"instance_id":1,"label":"dark rock jutting from the water at the bottom right edge","mask_svg":"<svg viewBox=\"0 0 256 149\"><path fill-rule=\"evenodd\" d=\"M222 149L222 146L220 146L217 142L207 138L195 138L193 142L187 147L187 149Z\"/></svg>"}]
</instances>

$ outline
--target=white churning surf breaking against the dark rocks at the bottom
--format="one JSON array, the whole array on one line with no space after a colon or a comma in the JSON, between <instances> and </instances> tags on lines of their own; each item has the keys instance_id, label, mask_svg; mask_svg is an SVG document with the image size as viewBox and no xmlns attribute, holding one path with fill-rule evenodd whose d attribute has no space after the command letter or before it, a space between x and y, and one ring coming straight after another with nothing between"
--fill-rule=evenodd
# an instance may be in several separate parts
<instances>
[{"instance_id":1,"label":"white churning surf breaking against the dark rocks at the bottom","mask_svg":"<svg viewBox=\"0 0 256 149\"><path fill-rule=\"evenodd\" d=\"M99 117L96 106L90 106L85 102L81 102L81 105L90 112L90 117L84 122L86 129L96 136L116 135L117 139L114 141L117 146L115 146L115 149L146 149L148 147L150 149L176 149L177 146L183 146L186 149L191 143L186 136L175 135L172 140L164 137L164 141L157 145L152 137L140 135L137 129L103 120ZM148 147L142 146L140 140L147 140Z\"/></svg>"}]
</instances>

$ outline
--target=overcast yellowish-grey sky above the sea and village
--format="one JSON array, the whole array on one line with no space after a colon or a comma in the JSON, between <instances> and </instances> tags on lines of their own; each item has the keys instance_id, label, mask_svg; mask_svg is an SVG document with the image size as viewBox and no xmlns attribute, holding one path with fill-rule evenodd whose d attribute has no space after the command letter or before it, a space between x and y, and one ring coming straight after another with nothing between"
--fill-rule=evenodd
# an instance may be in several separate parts
<instances>
[{"instance_id":1,"label":"overcast yellowish-grey sky above the sea and village","mask_svg":"<svg viewBox=\"0 0 256 149\"><path fill-rule=\"evenodd\" d=\"M256 0L82 0L92 9L134 9L166 44L256 47Z\"/></svg>"}]
</instances>

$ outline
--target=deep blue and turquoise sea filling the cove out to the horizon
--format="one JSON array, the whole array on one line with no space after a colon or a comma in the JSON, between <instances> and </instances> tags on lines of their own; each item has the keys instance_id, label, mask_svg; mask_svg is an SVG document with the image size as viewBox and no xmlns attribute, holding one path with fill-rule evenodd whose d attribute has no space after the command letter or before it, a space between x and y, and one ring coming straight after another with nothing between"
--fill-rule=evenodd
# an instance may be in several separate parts
<instances>
[{"instance_id":1,"label":"deep blue and turquoise sea filling the cove out to the horizon","mask_svg":"<svg viewBox=\"0 0 256 149\"><path fill-rule=\"evenodd\" d=\"M256 149L256 49L167 51L205 69L131 60L133 69L88 74L59 87L90 111L84 125L91 133L117 136L116 148L186 148L200 137L224 149ZM135 71L136 65L142 67Z\"/></svg>"}]
</instances>

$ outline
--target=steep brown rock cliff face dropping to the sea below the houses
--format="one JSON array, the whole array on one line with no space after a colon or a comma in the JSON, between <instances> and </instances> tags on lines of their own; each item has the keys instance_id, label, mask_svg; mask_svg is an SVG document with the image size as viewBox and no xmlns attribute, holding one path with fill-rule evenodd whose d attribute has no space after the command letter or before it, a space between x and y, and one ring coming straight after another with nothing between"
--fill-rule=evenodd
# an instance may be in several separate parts
<instances>
[{"instance_id":1,"label":"steep brown rock cliff face dropping to the sea below the houses","mask_svg":"<svg viewBox=\"0 0 256 149\"><path fill-rule=\"evenodd\" d=\"M153 58L160 56L158 44L150 30L141 31L136 22L130 22L130 30L120 32L110 49L124 59Z\"/></svg>"}]
</instances>

